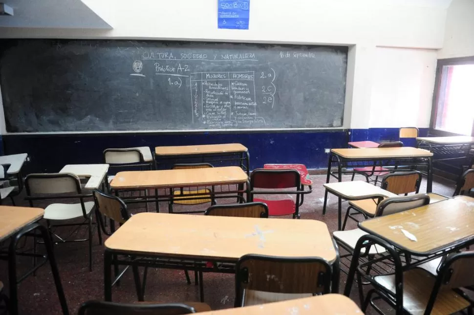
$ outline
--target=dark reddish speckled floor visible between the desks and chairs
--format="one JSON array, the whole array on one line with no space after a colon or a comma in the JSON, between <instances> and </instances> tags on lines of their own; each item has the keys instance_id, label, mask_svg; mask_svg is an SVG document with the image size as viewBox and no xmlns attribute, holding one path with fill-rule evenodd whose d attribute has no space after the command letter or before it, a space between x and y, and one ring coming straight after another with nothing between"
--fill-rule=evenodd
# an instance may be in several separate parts
<instances>
[{"instance_id":1,"label":"dark reddish speckled floor visible between the desks and chairs","mask_svg":"<svg viewBox=\"0 0 474 315\"><path fill-rule=\"evenodd\" d=\"M302 219L315 219L325 222L329 231L337 229L337 198L329 195L328 210L322 215L323 208L323 182L325 175L311 176L314 181L313 192L305 197L301 213ZM360 178L363 179L362 177ZM344 180L349 180L345 177ZM454 183L443 178L434 178L433 192L451 196ZM420 191L426 191L426 182L422 184ZM25 205L17 197L19 205ZM346 203L343 203L346 207ZM151 206L154 210L154 206ZM166 211L166 204L160 205L161 211ZM202 208L205 208L203 206ZM189 209L189 208L188 208ZM144 209L131 209L131 212L143 211ZM175 206L175 210L180 210ZM348 223L348 229L355 228L353 222ZM67 233L66 233L67 234ZM78 237L85 235L86 231L79 231ZM140 240L137 240L139 242ZM160 240L156 240L159 242ZM27 240L25 247L31 246L32 241ZM97 233L93 246L93 271L88 271L87 266L87 243L60 244L55 247L55 254L64 285L65 296L69 306L70 314L77 314L79 305L89 299L102 300L104 296L103 286L103 247L99 245ZM31 266L30 259L19 259L19 272ZM191 273L193 277L193 274ZM8 290L8 274L5 262L0 262L0 280ZM172 301L198 301L198 287L186 284L182 271L173 270L151 270L147 281L146 300L156 302ZM341 274L341 292L345 287L345 275ZM234 303L234 276L230 274L206 273L204 274L205 300L213 309L230 308ZM351 298L358 301L358 294L354 286ZM8 292L8 291L6 291ZM113 290L113 300L120 302L136 301L131 271L127 272L119 287ZM59 301L55 293L55 287L49 267L43 266L36 276L30 276L19 285L19 307L23 315L33 314L61 314ZM388 309L388 307L385 307ZM371 314L371 312L367 313Z\"/></svg>"}]
</instances>

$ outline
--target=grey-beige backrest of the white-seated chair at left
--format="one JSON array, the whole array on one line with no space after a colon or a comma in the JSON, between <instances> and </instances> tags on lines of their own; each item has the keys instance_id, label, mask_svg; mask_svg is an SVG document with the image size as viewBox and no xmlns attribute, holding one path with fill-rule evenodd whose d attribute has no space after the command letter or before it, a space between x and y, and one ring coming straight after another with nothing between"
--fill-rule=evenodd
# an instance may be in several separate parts
<instances>
[{"instance_id":1,"label":"grey-beige backrest of the white-seated chair at left","mask_svg":"<svg viewBox=\"0 0 474 315\"><path fill-rule=\"evenodd\" d=\"M34 173L25 178L28 196L80 194L81 181L71 173Z\"/></svg>"}]
</instances>

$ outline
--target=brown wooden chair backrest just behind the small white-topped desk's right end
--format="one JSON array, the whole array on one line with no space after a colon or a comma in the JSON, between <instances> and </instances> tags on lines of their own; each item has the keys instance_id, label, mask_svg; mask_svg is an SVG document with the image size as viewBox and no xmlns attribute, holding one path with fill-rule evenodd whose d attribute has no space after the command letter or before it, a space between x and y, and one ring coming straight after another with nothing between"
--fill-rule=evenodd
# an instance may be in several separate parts
<instances>
[{"instance_id":1,"label":"brown wooden chair backrest just behind the small white-topped desk's right end","mask_svg":"<svg viewBox=\"0 0 474 315\"><path fill-rule=\"evenodd\" d=\"M390 173L382 180L381 187L397 195L418 193L421 185L421 173L413 170L409 172Z\"/></svg>"}]
</instances>

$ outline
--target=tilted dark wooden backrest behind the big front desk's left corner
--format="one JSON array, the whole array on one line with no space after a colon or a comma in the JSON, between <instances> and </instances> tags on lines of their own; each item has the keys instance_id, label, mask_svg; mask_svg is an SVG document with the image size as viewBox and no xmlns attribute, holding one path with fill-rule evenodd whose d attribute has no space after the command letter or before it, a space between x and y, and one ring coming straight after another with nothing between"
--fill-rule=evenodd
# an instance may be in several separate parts
<instances>
[{"instance_id":1,"label":"tilted dark wooden backrest behind the big front desk's left corner","mask_svg":"<svg viewBox=\"0 0 474 315\"><path fill-rule=\"evenodd\" d=\"M127 205L117 196L112 196L99 190L92 192L95 206L100 213L117 223L125 223L130 217Z\"/></svg>"}]
</instances>

